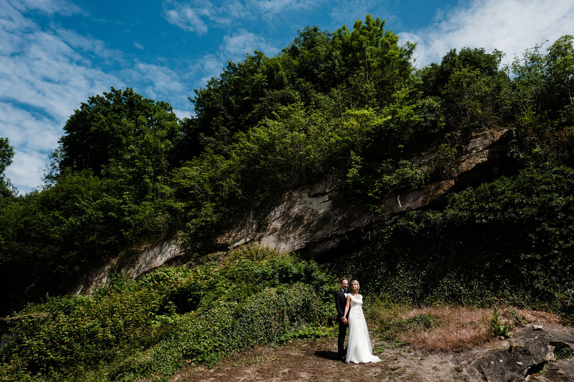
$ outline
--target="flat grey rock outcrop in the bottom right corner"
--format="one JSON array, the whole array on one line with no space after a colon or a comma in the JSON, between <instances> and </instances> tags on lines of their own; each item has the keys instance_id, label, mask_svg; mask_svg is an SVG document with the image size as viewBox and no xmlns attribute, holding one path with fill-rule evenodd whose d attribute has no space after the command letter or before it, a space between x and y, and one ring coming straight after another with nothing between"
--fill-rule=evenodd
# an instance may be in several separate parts
<instances>
[{"instance_id":1,"label":"flat grey rock outcrop in the bottom right corner","mask_svg":"<svg viewBox=\"0 0 574 382\"><path fill-rule=\"evenodd\" d=\"M572 373L572 359L555 362L554 351L568 346L574 349L574 330L534 329L533 324L519 330L504 349L474 351L454 357L471 381L523 382L572 381L563 377ZM552 371L542 373L545 370ZM551 379L548 379L550 376Z\"/></svg>"}]
</instances>

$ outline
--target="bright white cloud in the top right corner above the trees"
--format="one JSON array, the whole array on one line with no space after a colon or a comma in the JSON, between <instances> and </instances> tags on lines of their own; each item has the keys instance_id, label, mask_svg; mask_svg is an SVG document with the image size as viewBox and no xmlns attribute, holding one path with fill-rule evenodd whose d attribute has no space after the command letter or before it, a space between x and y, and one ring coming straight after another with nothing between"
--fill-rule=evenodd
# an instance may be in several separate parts
<instances>
[{"instance_id":1,"label":"bright white cloud in the top right corner above the trees","mask_svg":"<svg viewBox=\"0 0 574 382\"><path fill-rule=\"evenodd\" d=\"M440 62L452 48L502 50L512 60L535 44L574 33L574 2L552 0L480 0L457 7L435 25L400 33L417 42L418 66Z\"/></svg>"}]
</instances>

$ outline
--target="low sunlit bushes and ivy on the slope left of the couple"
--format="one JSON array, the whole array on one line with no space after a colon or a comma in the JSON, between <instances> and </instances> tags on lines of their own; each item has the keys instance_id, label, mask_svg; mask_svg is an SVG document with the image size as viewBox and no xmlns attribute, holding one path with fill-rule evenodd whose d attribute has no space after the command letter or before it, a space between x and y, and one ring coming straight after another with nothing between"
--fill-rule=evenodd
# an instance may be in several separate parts
<instances>
[{"instance_id":1,"label":"low sunlit bushes and ivy on the slope left of the couple","mask_svg":"<svg viewBox=\"0 0 574 382\"><path fill-rule=\"evenodd\" d=\"M117 275L91 296L28 306L0 350L0 380L168 380L186 363L326 325L332 288L316 263L258 247L138 282Z\"/></svg>"}]
</instances>

